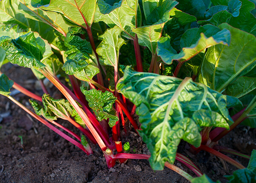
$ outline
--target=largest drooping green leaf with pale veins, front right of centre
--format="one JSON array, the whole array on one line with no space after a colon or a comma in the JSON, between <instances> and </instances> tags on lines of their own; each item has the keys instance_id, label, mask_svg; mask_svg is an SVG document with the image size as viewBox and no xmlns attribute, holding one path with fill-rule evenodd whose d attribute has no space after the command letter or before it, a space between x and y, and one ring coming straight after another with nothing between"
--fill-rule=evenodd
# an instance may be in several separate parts
<instances>
[{"instance_id":1,"label":"largest drooping green leaf with pale veins, front right of centre","mask_svg":"<svg viewBox=\"0 0 256 183\"><path fill-rule=\"evenodd\" d=\"M163 169L166 161L174 163L181 139L198 147L200 126L228 129L227 122L232 119L227 108L240 103L191 78L138 73L129 67L117 90L136 105L142 128L139 133L151 152L154 170Z\"/></svg>"}]
</instances>

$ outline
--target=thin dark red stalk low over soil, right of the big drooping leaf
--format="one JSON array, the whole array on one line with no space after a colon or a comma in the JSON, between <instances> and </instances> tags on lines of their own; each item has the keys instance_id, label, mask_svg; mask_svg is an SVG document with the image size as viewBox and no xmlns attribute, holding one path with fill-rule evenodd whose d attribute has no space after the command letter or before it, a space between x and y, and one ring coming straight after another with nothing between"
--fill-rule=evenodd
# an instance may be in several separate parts
<instances>
[{"instance_id":1,"label":"thin dark red stalk low over soil, right of the big drooping leaf","mask_svg":"<svg viewBox=\"0 0 256 183\"><path fill-rule=\"evenodd\" d=\"M232 164L233 166L236 166L239 169L245 168L244 166L242 166L240 163L236 162L232 158L227 157L226 155L224 155L224 154L220 153L219 151L216 151L216 150L214 150L212 148L209 148L206 145L201 145L198 149L207 151L207 152L209 152L209 153L211 153L211 154L213 154L213 155L215 155L215 156L217 156L217 157L227 161L228 163Z\"/></svg>"}]
</instances>

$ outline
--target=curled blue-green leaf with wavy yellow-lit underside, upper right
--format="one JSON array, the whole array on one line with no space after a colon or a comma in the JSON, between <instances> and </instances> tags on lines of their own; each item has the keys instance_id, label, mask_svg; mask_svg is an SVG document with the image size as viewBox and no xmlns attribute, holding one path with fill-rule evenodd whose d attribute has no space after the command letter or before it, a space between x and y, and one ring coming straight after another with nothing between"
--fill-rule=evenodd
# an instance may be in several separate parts
<instances>
[{"instance_id":1,"label":"curled blue-green leaf with wavy yellow-lit underside, upper right","mask_svg":"<svg viewBox=\"0 0 256 183\"><path fill-rule=\"evenodd\" d=\"M179 62L188 61L199 52L216 44L230 44L230 31L218 29L212 25L201 26L200 28L188 29L180 39L182 51L177 52L170 46L168 38L162 38L157 44L157 55L166 64L172 64L173 60Z\"/></svg>"}]
</instances>

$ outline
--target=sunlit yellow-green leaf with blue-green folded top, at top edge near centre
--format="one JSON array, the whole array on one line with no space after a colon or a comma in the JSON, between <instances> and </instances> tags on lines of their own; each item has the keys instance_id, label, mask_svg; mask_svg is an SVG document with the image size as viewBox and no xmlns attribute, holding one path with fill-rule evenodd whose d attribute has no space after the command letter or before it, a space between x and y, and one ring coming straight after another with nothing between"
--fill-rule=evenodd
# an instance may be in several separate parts
<instances>
[{"instance_id":1,"label":"sunlit yellow-green leaf with blue-green folded top, at top edge near centre","mask_svg":"<svg viewBox=\"0 0 256 183\"><path fill-rule=\"evenodd\" d=\"M99 0L95 22L103 21L110 27L119 26L129 38L134 38L135 34L132 29L136 27L135 17L140 17L140 12L137 14L137 2L137 0L122 0L111 6L104 0Z\"/></svg>"}]
</instances>

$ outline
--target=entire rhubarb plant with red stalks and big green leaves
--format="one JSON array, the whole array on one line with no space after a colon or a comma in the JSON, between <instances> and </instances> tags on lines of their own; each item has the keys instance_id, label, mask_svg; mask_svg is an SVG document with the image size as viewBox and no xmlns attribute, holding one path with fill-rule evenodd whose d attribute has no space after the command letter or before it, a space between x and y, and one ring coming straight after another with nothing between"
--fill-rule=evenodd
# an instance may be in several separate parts
<instances>
[{"instance_id":1,"label":"entire rhubarb plant with red stalks and big green leaves","mask_svg":"<svg viewBox=\"0 0 256 183\"><path fill-rule=\"evenodd\" d=\"M239 168L227 176L230 183L256 182L255 150L247 156L216 146L241 122L256 127L253 9L249 0L1 0L0 65L31 68L66 99L49 96L43 82L45 94L37 96L2 73L0 94L86 154L98 144L109 168L117 160L148 159L154 170L166 166L192 183L212 182L177 153L184 140L194 153L207 151ZM10 96L12 87L33 99L35 112ZM151 155L122 146L127 123ZM248 158L249 165L220 151Z\"/></svg>"}]
</instances>

